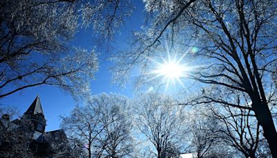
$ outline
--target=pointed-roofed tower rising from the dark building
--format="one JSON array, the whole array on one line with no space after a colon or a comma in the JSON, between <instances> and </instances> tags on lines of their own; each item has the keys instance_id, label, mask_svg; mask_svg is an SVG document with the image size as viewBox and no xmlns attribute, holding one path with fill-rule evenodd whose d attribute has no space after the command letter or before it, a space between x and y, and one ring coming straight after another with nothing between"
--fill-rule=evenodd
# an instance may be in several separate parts
<instances>
[{"instance_id":1,"label":"pointed-roofed tower rising from the dark building","mask_svg":"<svg viewBox=\"0 0 277 158\"><path fill-rule=\"evenodd\" d=\"M44 112L42 111L42 105L40 103L39 96L35 98L27 111L24 112L23 116L25 119L30 119L30 121L32 121L35 132L44 133L46 119L44 118Z\"/></svg>"}]
</instances>

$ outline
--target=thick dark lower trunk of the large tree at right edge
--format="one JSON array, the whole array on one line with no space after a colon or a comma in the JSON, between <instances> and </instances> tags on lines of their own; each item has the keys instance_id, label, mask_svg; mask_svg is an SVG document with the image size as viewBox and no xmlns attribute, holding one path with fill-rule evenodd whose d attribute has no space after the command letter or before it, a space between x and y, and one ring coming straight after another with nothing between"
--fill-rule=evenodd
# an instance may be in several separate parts
<instances>
[{"instance_id":1,"label":"thick dark lower trunk of the large tree at right edge","mask_svg":"<svg viewBox=\"0 0 277 158\"><path fill-rule=\"evenodd\" d=\"M267 139L271 155L272 157L277 158L277 132L269 107L265 103L260 103L257 98L253 102L252 107L256 114L258 123L260 123L264 131L263 135L265 139Z\"/></svg>"}]
</instances>

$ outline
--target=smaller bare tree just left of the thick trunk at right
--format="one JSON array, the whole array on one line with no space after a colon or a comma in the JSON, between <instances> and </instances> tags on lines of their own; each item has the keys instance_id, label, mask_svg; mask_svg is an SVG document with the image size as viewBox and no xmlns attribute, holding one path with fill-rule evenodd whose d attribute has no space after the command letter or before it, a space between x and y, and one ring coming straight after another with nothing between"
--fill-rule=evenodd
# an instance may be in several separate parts
<instances>
[{"instance_id":1,"label":"smaller bare tree just left of the thick trunk at right","mask_svg":"<svg viewBox=\"0 0 277 158\"><path fill-rule=\"evenodd\" d=\"M236 92L236 97L232 98L234 99L233 103L241 105L243 102L245 107L249 107L251 105L250 100L240 95L240 91ZM258 157L267 154L258 152L259 144L265 141L265 138L262 137L262 129L251 109L214 104L211 105L210 110L213 117L222 123L224 128L218 132L224 134L223 141L229 146L240 151L245 157Z\"/></svg>"}]
</instances>

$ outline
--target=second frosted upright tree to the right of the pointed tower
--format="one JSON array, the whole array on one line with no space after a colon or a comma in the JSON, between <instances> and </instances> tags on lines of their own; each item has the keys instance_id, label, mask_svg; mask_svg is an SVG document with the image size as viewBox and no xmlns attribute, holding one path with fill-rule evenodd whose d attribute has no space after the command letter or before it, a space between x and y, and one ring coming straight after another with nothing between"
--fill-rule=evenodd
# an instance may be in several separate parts
<instances>
[{"instance_id":1,"label":"second frosted upright tree to the right of the pointed tower","mask_svg":"<svg viewBox=\"0 0 277 158\"><path fill-rule=\"evenodd\" d=\"M118 94L100 94L89 100L89 104L105 125L98 137L100 157L131 157L135 142L129 99Z\"/></svg>"}]
</instances>

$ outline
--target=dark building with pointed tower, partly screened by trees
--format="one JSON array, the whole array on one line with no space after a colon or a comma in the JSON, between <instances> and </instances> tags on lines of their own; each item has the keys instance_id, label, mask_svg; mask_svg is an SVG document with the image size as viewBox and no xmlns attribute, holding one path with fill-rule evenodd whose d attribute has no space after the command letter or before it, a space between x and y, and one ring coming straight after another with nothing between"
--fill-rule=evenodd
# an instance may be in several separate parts
<instances>
[{"instance_id":1,"label":"dark building with pointed tower, partly screened by trees","mask_svg":"<svg viewBox=\"0 0 277 158\"><path fill-rule=\"evenodd\" d=\"M7 114L2 115L0 157L71 157L64 130L45 132L45 128L39 96L21 118L10 121Z\"/></svg>"}]
</instances>

